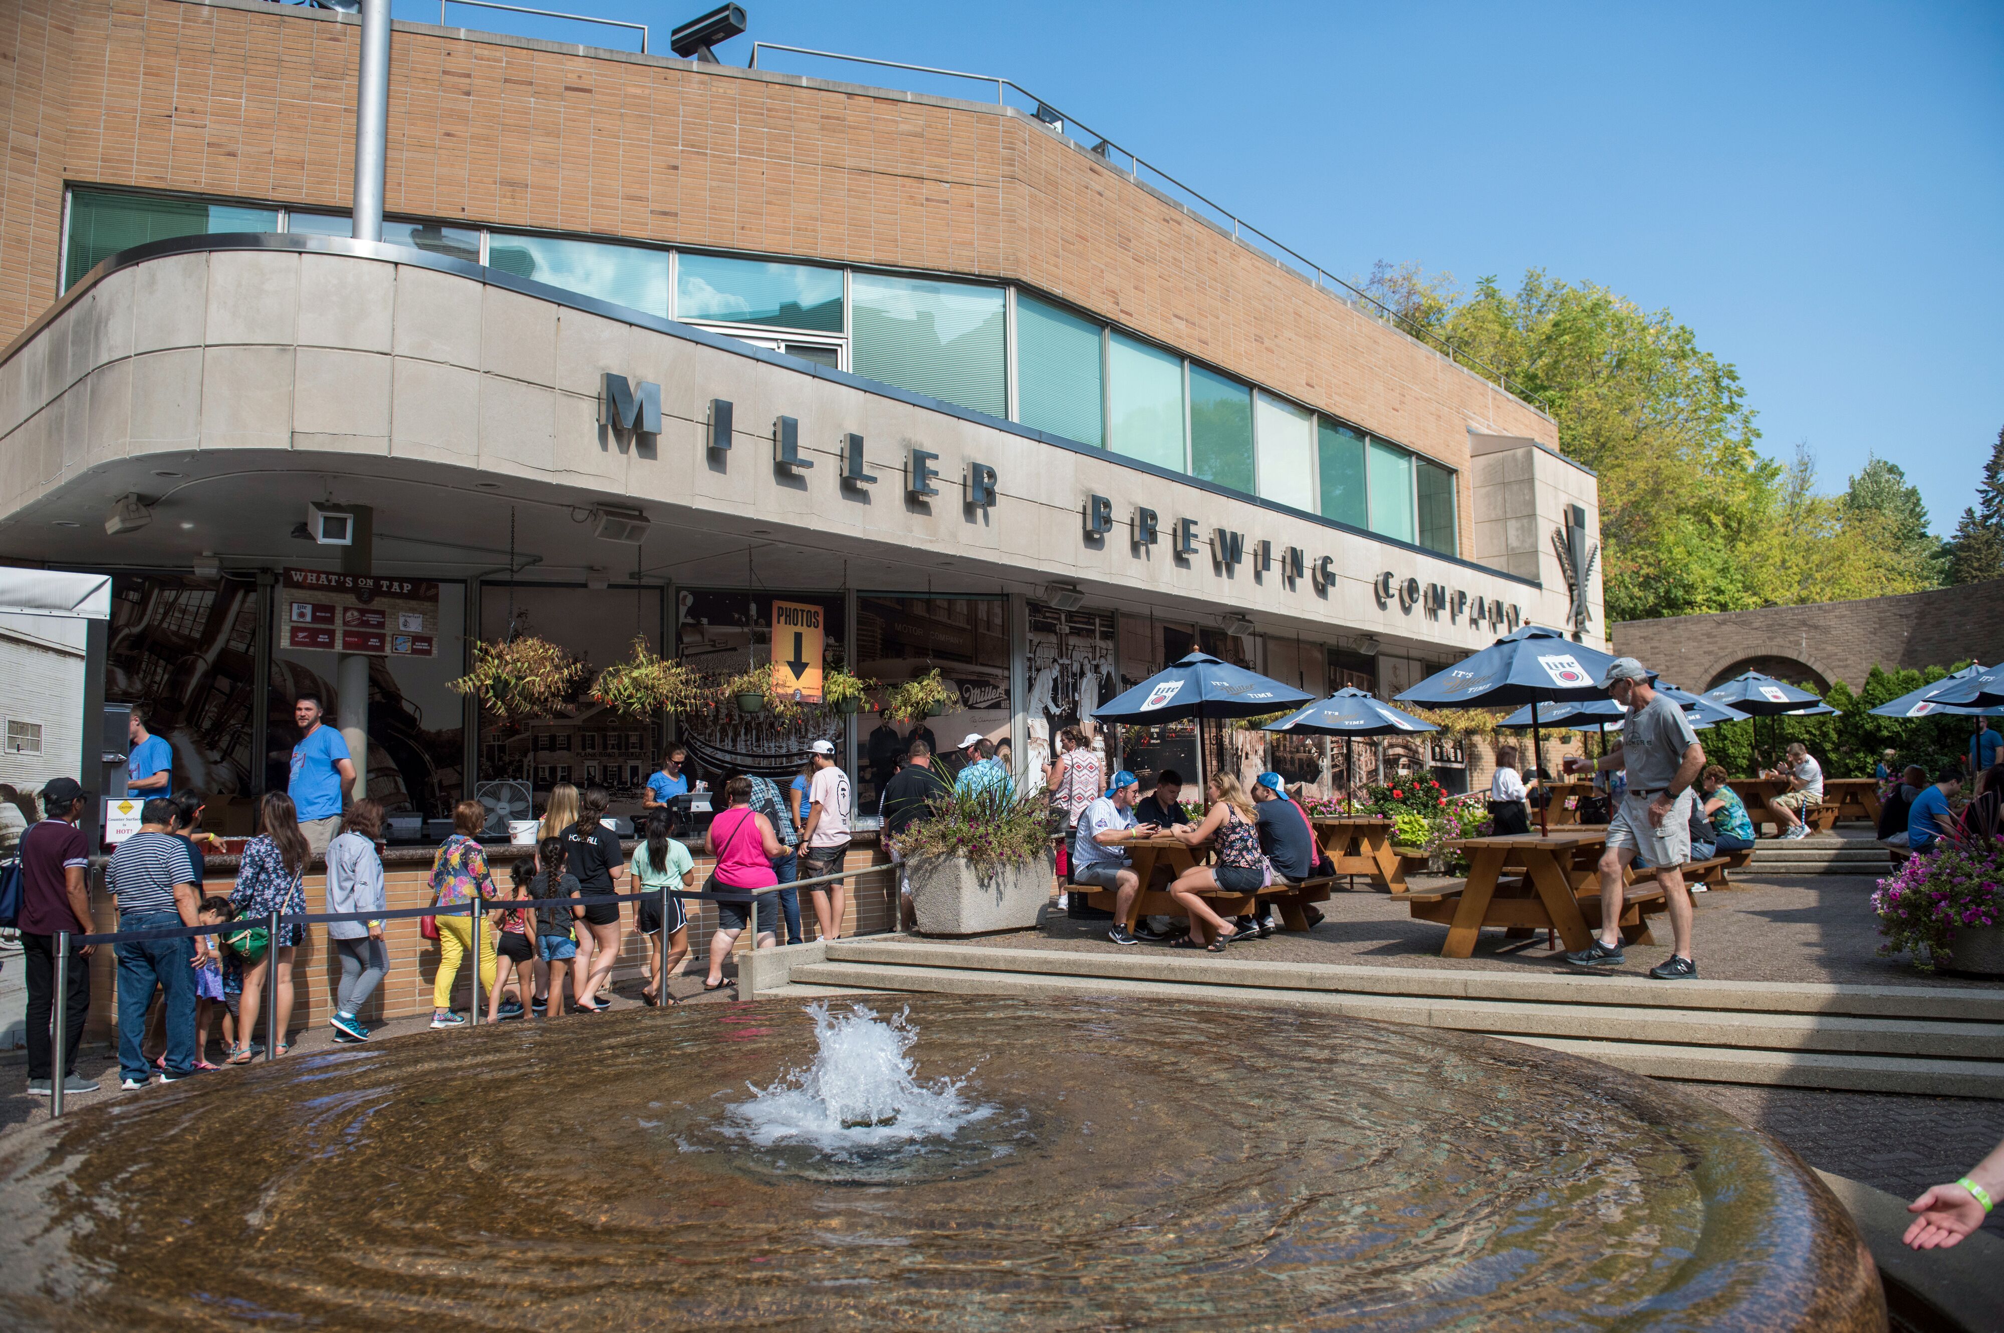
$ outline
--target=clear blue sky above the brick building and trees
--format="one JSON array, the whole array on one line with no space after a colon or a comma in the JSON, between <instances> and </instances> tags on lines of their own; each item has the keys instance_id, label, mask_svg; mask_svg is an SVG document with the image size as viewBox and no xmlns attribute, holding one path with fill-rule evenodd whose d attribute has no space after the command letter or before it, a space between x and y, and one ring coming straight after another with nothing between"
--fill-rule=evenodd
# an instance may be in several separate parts
<instances>
[{"instance_id":1,"label":"clear blue sky above the brick building and trees","mask_svg":"<svg viewBox=\"0 0 2004 1333\"><path fill-rule=\"evenodd\" d=\"M705 8L543 4L655 50ZM2004 426L2004 4L745 8L731 64L760 38L1004 74L1337 274L1543 268L1667 308L1768 452L1806 442L1830 490L1892 458L1940 532Z\"/></svg>"}]
</instances>

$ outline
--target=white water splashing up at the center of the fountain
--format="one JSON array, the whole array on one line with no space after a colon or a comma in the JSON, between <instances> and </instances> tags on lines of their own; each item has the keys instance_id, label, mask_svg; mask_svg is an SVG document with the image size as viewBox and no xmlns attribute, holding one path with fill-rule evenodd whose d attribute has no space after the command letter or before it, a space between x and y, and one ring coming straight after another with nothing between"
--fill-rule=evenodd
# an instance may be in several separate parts
<instances>
[{"instance_id":1,"label":"white water splashing up at the center of the fountain","mask_svg":"<svg viewBox=\"0 0 2004 1333\"><path fill-rule=\"evenodd\" d=\"M966 1099L966 1077L918 1081L910 1057L918 1029L906 1013L884 1021L864 1005L844 1015L808 1005L808 1015L818 1043L814 1063L770 1087L749 1083L752 1101L727 1111L723 1133L760 1147L808 1145L840 1157L952 1139L994 1115L994 1107Z\"/></svg>"}]
</instances>

